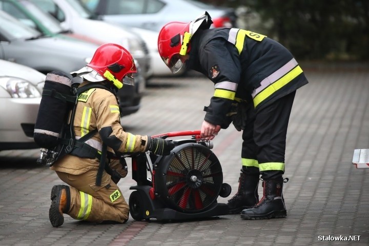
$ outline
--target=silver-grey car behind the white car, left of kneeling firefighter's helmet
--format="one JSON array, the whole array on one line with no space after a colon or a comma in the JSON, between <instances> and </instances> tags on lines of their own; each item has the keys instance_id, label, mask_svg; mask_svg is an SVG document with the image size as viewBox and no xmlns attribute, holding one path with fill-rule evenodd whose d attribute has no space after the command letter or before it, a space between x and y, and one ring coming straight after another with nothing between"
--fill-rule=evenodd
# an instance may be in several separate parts
<instances>
[{"instance_id":1,"label":"silver-grey car behind the white car, left of kneeling firefighter's helmet","mask_svg":"<svg viewBox=\"0 0 369 246\"><path fill-rule=\"evenodd\" d=\"M13 61L42 73L70 73L84 67L97 45L48 37L0 11L0 59Z\"/></svg>"}]
</instances>

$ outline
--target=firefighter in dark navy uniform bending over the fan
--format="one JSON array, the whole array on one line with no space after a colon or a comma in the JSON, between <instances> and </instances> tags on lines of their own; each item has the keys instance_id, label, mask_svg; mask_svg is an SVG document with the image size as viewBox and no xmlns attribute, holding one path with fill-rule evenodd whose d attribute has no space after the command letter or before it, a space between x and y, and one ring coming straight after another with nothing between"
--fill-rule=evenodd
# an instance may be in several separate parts
<instances>
[{"instance_id":1,"label":"firefighter in dark navy uniform bending over the fan","mask_svg":"<svg viewBox=\"0 0 369 246\"><path fill-rule=\"evenodd\" d=\"M242 132L242 169L231 213L242 219L286 216L282 196L286 132L295 92L308 84L292 54L265 35L238 28L210 29L206 12L190 23L171 22L159 32L158 50L173 73L206 75L214 95L201 135L213 139L233 122ZM259 175L264 196L259 201Z\"/></svg>"}]
</instances>

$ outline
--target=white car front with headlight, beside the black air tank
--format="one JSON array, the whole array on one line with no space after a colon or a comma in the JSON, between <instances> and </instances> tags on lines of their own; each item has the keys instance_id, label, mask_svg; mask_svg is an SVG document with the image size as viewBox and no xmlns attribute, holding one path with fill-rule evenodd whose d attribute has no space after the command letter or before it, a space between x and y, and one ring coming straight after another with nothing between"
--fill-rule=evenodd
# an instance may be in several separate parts
<instances>
[{"instance_id":1,"label":"white car front with headlight, beside the black air tank","mask_svg":"<svg viewBox=\"0 0 369 246\"><path fill-rule=\"evenodd\" d=\"M37 149L33 130L46 75L0 59L0 150Z\"/></svg>"}]
</instances>

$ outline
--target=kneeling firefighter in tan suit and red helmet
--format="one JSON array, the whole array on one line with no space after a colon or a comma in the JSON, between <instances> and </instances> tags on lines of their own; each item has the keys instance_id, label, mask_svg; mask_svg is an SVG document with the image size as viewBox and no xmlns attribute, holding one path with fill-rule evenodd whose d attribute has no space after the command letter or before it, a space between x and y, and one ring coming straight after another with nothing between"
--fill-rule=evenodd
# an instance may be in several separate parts
<instances>
[{"instance_id":1,"label":"kneeling firefighter in tan suit and red helmet","mask_svg":"<svg viewBox=\"0 0 369 246\"><path fill-rule=\"evenodd\" d=\"M89 137L50 167L69 185L54 186L51 190L49 218L53 227L64 223L64 213L97 223L125 223L129 206L116 183L126 176L127 165L124 159L118 160L119 156L145 151L168 155L174 148L171 141L133 135L122 129L116 91L123 83L133 85L133 73L136 67L131 54L116 44L100 46L91 63L71 73L83 78L78 88L88 84L105 88L91 88L79 95L72 118L75 139L87 134ZM116 160L111 161L110 156ZM106 163L110 172L101 170L101 162Z\"/></svg>"}]
</instances>

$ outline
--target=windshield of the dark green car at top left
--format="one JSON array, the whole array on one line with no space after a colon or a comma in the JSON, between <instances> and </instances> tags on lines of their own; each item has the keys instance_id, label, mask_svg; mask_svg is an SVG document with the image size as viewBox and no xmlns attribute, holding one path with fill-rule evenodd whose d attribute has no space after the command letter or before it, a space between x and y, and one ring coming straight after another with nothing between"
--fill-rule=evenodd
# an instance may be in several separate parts
<instances>
[{"instance_id":1,"label":"windshield of the dark green car at top left","mask_svg":"<svg viewBox=\"0 0 369 246\"><path fill-rule=\"evenodd\" d=\"M23 6L32 13L33 17L41 22L52 33L61 33L64 30L60 27L58 21L51 15L37 8L29 2L22 2Z\"/></svg>"}]
</instances>

